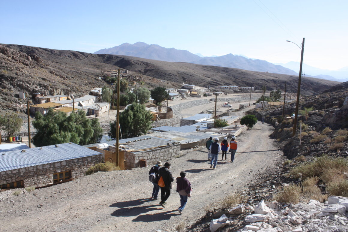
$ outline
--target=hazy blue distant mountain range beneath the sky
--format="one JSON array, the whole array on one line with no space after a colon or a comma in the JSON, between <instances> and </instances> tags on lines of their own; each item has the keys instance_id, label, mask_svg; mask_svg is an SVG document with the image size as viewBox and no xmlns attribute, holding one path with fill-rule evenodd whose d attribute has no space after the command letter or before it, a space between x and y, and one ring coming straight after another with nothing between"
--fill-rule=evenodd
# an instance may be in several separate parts
<instances>
[{"instance_id":1,"label":"hazy blue distant mountain range beneath the sky","mask_svg":"<svg viewBox=\"0 0 348 232\"><path fill-rule=\"evenodd\" d=\"M195 64L213 65L220 67L239 68L250 71L270 72L287 75L297 75L299 70L298 62L270 63L264 60L250 59L241 55L227 54L223 56L206 56L200 53L192 54L186 50L165 48L156 44L136 42L135 44L124 43L112 48L101 49L94 54L113 54L141 57L151 60L169 62L189 62ZM327 80L345 82L348 80L348 67L331 71L311 67L303 64L303 73L308 77L316 77Z\"/></svg>"}]
</instances>

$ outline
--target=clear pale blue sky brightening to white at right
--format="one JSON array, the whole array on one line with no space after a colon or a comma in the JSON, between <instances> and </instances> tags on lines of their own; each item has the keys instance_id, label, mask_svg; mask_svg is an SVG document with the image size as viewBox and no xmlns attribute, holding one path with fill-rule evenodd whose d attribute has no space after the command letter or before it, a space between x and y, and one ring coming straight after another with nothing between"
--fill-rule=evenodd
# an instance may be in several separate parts
<instances>
[{"instance_id":1,"label":"clear pale blue sky brightening to white at right","mask_svg":"<svg viewBox=\"0 0 348 232\"><path fill-rule=\"evenodd\" d=\"M2 0L0 43L93 53L141 41L204 56L348 66L346 0ZM290 40L297 44L286 42Z\"/></svg>"}]
</instances>

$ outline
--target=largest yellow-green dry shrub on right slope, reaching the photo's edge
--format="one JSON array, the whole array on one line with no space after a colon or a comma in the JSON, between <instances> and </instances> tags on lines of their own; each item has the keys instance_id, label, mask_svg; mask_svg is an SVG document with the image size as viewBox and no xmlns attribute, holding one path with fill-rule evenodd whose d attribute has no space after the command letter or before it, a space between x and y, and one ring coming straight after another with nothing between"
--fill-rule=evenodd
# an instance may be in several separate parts
<instances>
[{"instance_id":1,"label":"largest yellow-green dry shrub on right slope, reaching the photo's edge","mask_svg":"<svg viewBox=\"0 0 348 232\"><path fill-rule=\"evenodd\" d=\"M348 170L347 158L323 155L321 157L317 157L313 162L304 162L300 164L299 166L291 169L287 175L300 178L300 174L302 174L302 178L305 180L308 177L319 177L326 170L333 169L337 169L342 173L346 172Z\"/></svg>"}]
</instances>

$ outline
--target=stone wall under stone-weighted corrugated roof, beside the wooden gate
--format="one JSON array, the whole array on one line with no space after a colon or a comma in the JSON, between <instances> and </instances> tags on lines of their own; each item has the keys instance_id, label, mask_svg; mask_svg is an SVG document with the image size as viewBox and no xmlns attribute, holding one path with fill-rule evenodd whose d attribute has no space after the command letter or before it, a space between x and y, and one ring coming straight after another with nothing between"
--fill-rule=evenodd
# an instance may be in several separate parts
<instances>
[{"instance_id":1,"label":"stone wall under stone-weighted corrugated roof, beside the wooden gate","mask_svg":"<svg viewBox=\"0 0 348 232\"><path fill-rule=\"evenodd\" d=\"M126 168L130 169L139 167L140 160L146 160L147 165L154 165L157 160L165 162L166 160L179 155L179 152L180 144L169 145L142 153L125 152Z\"/></svg>"}]
</instances>

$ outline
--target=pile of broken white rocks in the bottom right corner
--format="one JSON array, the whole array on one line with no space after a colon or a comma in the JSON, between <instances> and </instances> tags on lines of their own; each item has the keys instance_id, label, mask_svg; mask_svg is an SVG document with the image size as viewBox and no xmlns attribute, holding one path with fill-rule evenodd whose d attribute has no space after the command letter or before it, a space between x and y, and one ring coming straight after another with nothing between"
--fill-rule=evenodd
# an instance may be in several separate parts
<instances>
[{"instance_id":1,"label":"pile of broken white rocks in the bottom right corner","mask_svg":"<svg viewBox=\"0 0 348 232\"><path fill-rule=\"evenodd\" d=\"M229 215L242 214L243 204L230 209ZM251 209L251 206L247 206ZM279 205L277 202L264 202L261 200L254 208L254 214L247 215L244 219L243 229L239 230L252 232L298 232L298 231L348 231L348 198L342 196L329 196L327 202L320 203L310 200L309 203ZM216 231L220 221L224 225L232 218L223 218L211 221L211 231ZM221 220L220 220L221 219ZM220 220L220 221L219 221ZM215 225L215 226L212 226ZM222 223L220 223L221 226ZM217 227L217 228L216 228ZM212 230L213 229L213 230Z\"/></svg>"}]
</instances>

